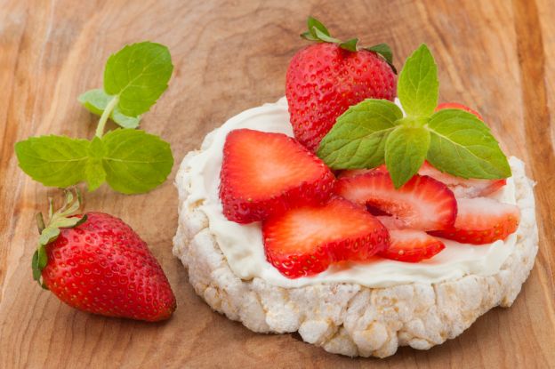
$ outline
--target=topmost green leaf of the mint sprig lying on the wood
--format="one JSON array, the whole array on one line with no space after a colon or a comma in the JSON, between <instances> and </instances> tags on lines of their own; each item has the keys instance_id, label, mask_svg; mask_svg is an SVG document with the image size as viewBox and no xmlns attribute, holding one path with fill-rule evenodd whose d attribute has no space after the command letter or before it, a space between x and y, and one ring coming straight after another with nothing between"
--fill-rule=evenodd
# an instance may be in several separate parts
<instances>
[{"instance_id":1,"label":"topmost green leaf of the mint sprig lying on the wood","mask_svg":"<svg viewBox=\"0 0 555 369\"><path fill-rule=\"evenodd\" d=\"M122 114L140 116L165 92L172 71L172 58L164 45L126 45L106 63L104 91L118 96L117 107Z\"/></svg>"}]
</instances>

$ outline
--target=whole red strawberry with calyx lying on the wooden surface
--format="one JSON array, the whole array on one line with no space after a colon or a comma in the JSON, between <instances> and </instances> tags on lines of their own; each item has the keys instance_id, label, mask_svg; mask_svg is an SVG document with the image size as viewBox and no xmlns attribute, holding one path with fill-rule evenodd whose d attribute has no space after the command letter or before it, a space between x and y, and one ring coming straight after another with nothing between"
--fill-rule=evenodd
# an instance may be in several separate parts
<instances>
[{"instance_id":1,"label":"whole red strawberry with calyx lying on the wooden surface","mask_svg":"<svg viewBox=\"0 0 555 369\"><path fill-rule=\"evenodd\" d=\"M175 297L147 244L106 213L73 215L78 197L51 210L33 257L33 275L69 306L107 317L155 322L172 316ZM51 206L52 209L52 206ZM39 217L39 220L42 218Z\"/></svg>"}]
</instances>

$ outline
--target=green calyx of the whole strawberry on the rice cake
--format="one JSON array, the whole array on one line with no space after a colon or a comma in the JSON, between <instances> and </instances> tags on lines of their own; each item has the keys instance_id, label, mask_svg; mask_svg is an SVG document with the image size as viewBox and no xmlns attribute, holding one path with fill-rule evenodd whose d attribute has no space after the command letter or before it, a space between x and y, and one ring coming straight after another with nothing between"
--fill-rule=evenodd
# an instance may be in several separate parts
<instances>
[{"instance_id":1,"label":"green calyx of the whole strawberry on the rice cake","mask_svg":"<svg viewBox=\"0 0 555 369\"><path fill-rule=\"evenodd\" d=\"M338 38L332 37L326 26L314 17L308 18L307 25L309 30L301 34L302 38L319 43L338 44L339 47L349 52L357 52L358 50L375 52L377 55L382 57L382 59L389 64L391 69L393 69L393 72L397 74L397 69L393 65L393 52L391 52L391 48L388 44L374 44L374 46L358 48L358 38L350 38L347 41L342 41Z\"/></svg>"}]
</instances>

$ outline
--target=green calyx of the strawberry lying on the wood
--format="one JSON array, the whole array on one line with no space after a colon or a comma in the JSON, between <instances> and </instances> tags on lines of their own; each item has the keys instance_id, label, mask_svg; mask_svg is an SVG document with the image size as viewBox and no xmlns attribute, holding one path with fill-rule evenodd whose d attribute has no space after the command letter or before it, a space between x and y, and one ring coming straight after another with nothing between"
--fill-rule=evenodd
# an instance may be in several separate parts
<instances>
[{"instance_id":1,"label":"green calyx of the strawberry lying on the wood","mask_svg":"<svg viewBox=\"0 0 555 369\"><path fill-rule=\"evenodd\" d=\"M82 217L73 216L81 207L81 193L78 189L65 189L64 204L56 212L53 211L52 198L49 199L48 223L44 223L43 213L36 214L36 225L40 236L38 245L33 254L31 267L33 269L33 279L38 285L47 289L41 280L42 271L48 264L46 245L56 240L60 235L60 229L71 229L86 221L86 214Z\"/></svg>"}]
</instances>

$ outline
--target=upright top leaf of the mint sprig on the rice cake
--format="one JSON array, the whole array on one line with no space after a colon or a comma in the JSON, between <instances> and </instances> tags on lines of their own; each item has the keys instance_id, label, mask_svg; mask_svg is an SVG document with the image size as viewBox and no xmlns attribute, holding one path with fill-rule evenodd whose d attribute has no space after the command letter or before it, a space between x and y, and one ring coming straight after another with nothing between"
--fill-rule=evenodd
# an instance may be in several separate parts
<instances>
[{"instance_id":1,"label":"upright top leaf of the mint sprig on the rice cake","mask_svg":"<svg viewBox=\"0 0 555 369\"><path fill-rule=\"evenodd\" d=\"M398 99L407 116L430 116L438 106L438 66L425 44L405 61L398 78Z\"/></svg>"}]
</instances>

